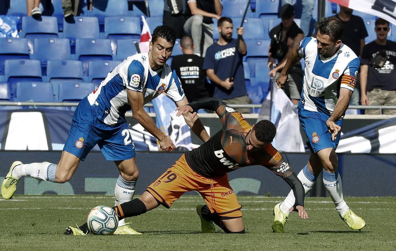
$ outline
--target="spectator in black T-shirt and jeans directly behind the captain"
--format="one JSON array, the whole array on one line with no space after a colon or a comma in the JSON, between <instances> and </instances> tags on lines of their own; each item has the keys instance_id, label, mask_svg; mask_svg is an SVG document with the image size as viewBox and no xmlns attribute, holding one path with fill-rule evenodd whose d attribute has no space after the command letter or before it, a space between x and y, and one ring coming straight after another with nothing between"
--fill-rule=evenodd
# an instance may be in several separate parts
<instances>
[{"instance_id":1,"label":"spectator in black T-shirt and jeans directly behind the captain","mask_svg":"<svg viewBox=\"0 0 396 251\"><path fill-rule=\"evenodd\" d=\"M362 17L352 15L352 11L352 9L340 5L340 12L335 16L340 19L344 25L343 44L346 44L352 49L356 56L360 57L364 47L364 38L366 38L368 34ZM357 77L356 88L350 98L350 105L359 105L359 79L360 78Z\"/></svg>"}]
</instances>

